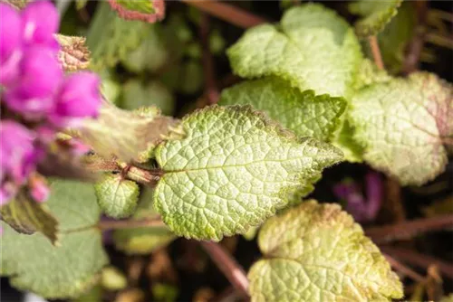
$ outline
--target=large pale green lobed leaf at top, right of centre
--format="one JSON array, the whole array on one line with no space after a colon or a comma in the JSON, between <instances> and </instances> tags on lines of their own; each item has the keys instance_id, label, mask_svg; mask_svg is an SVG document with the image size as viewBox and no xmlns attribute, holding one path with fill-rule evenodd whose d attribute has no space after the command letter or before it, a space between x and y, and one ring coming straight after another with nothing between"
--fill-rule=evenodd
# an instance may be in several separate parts
<instances>
[{"instance_id":1,"label":"large pale green lobed leaf at top, right of centre","mask_svg":"<svg viewBox=\"0 0 453 302\"><path fill-rule=\"evenodd\" d=\"M361 63L361 46L352 27L319 4L289 9L279 26L249 29L228 51L241 77L277 76L316 95L349 97Z\"/></svg>"}]
</instances>

